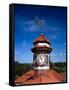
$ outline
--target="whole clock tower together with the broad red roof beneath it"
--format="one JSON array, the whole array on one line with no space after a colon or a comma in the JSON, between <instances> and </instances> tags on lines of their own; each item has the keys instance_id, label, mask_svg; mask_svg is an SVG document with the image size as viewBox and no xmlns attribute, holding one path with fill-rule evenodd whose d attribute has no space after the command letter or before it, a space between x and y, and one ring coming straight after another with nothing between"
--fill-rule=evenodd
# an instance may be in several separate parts
<instances>
[{"instance_id":1,"label":"whole clock tower together with the broad red roof beneath it","mask_svg":"<svg viewBox=\"0 0 69 90\"><path fill-rule=\"evenodd\" d=\"M52 51L49 40L41 34L33 42L33 65L34 70L29 70L15 80L16 85L19 84L44 84L58 83L65 81L63 74L56 72L50 68L50 53Z\"/></svg>"}]
</instances>

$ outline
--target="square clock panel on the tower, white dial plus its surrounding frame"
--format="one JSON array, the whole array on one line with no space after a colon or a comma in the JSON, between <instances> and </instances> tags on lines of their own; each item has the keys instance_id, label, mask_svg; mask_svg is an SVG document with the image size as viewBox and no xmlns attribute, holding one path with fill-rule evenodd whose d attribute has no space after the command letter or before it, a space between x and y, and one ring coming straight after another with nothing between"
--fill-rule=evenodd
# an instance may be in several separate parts
<instances>
[{"instance_id":1,"label":"square clock panel on the tower, white dial plus its surrounding frame","mask_svg":"<svg viewBox=\"0 0 69 90\"><path fill-rule=\"evenodd\" d=\"M46 53L39 53L34 55L34 64L38 66L45 66L49 64L49 55Z\"/></svg>"}]
</instances>

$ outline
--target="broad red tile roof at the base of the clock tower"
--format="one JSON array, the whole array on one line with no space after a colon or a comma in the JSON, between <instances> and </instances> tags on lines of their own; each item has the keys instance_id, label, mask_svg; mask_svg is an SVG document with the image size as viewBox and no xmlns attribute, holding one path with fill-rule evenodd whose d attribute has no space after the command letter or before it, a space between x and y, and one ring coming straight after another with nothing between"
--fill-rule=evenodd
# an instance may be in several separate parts
<instances>
[{"instance_id":1,"label":"broad red tile roof at the base of the clock tower","mask_svg":"<svg viewBox=\"0 0 69 90\"><path fill-rule=\"evenodd\" d=\"M40 84L40 83L56 83L64 81L64 75L52 69L41 71L30 70L15 80L15 84Z\"/></svg>"}]
</instances>

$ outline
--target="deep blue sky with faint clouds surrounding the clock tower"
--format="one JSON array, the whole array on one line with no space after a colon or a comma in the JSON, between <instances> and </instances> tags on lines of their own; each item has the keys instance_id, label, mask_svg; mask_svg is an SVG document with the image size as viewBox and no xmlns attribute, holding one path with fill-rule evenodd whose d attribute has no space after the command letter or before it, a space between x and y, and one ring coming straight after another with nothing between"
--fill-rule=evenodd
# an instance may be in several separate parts
<instances>
[{"instance_id":1,"label":"deep blue sky with faint clouds surrounding the clock tower","mask_svg":"<svg viewBox=\"0 0 69 90\"><path fill-rule=\"evenodd\" d=\"M35 17L44 20L42 27L35 24ZM32 42L43 32L51 42L52 62L66 61L66 8L32 7L15 5L14 34L15 61L32 63Z\"/></svg>"}]
</instances>

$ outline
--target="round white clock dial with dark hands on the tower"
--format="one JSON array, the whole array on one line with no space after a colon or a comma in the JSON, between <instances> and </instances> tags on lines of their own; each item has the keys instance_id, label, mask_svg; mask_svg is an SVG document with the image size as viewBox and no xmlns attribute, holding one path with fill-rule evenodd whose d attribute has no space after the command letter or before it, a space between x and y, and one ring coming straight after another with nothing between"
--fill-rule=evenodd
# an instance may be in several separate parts
<instances>
[{"instance_id":1,"label":"round white clock dial with dark hands on the tower","mask_svg":"<svg viewBox=\"0 0 69 90\"><path fill-rule=\"evenodd\" d=\"M38 54L36 57L36 62L38 65L46 65L47 61L48 60L46 54Z\"/></svg>"}]
</instances>

